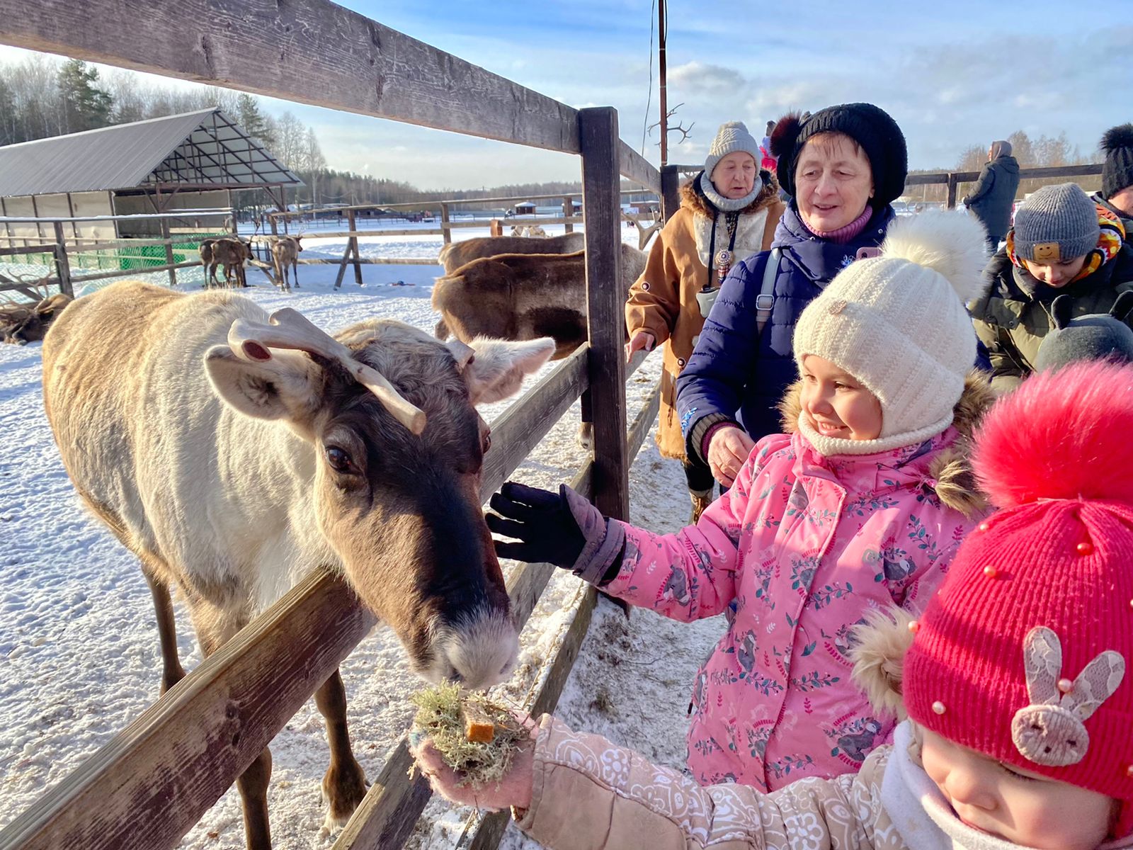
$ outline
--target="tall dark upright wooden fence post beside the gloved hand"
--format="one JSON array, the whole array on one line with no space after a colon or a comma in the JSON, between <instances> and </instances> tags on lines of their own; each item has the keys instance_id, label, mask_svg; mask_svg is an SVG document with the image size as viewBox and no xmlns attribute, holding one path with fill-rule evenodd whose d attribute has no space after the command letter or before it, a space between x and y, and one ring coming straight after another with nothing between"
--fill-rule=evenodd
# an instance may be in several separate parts
<instances>
[{"instance_id":1,"label":"tall dark upright wooden fence post beside the gloved hand","mask_svg":"<svg viewBox=\"0 0 1133 850\"><path fill-rule=\"evenodd\" d=\"M605 516L629 518L625 447L625 289L622 287L621 177L617 112L591 107L578 113L586 221L586 303L594 417L594 503Z\"/></svg>"}]
</instances>

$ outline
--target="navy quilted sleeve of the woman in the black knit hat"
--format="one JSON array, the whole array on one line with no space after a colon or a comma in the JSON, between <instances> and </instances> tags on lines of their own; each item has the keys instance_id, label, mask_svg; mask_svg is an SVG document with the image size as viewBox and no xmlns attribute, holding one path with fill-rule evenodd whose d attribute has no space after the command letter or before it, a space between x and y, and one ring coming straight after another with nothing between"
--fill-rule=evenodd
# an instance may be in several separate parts
<instances>
[{"instance_id":1,"label":"navy quilted sleeve of the woman in the black knit hat","mask_svg":"<svg viewBox=\"0 0 1133 850\"><path fill-rule=\"evenodd\" d=\"M766 250L756 254L727 273L689 364L676 379L676 411L685 439L707 416L735 422L759 348L756 296L769 256ZM689 440L688 451L702 460L699 442Z\"/></svg>"}]
</instances>

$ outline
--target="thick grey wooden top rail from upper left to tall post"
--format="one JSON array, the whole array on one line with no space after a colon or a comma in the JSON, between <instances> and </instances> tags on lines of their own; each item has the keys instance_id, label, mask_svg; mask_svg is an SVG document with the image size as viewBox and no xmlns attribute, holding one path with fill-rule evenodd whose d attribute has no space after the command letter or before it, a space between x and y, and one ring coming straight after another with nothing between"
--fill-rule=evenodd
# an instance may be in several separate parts
<instances>
[{"instance_id":1,"label":"thick grey wooden top rail from upper left to tall post","mask_svg":"<svg viewBox=\"0 0 1133 850\"><path fill-rule=\"evenodd\" d=\"M0 43L579 152L571 107L329 0L0 0Z\"/></svg>"}]
</instances>

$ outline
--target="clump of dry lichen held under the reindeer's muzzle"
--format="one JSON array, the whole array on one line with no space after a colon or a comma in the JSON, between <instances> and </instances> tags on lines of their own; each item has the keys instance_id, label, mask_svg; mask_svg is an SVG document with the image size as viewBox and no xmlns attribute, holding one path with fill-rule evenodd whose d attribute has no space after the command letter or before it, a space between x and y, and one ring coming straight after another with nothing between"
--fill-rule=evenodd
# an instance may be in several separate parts
<instances>
[{"instance_id":1,"label":"clump of dry lichen held under the reindeer's muzzle","mask_svg":"<svg viewBox=\"0 0 1133 850\"><path fill-rule=\"evenodd\" d=\"M462 692L458 685L442 682L409 699L417 706L412 731L432 740L445 764L460 775L461 785L479 789L501 782L516 753L531 738L530 730L510 708L486 694ZM492 740L469 740L469 719L491 723Z\"/></svg>"}]
</instances>

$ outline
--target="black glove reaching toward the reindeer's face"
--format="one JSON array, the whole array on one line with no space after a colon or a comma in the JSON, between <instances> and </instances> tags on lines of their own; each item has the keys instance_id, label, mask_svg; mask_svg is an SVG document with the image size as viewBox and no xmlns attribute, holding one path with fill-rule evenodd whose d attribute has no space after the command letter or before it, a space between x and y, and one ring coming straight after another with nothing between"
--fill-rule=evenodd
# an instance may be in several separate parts
<instances>
[{"instance_id":1,"label":"black glove reaching toward the reindeer's face","mask_svg":"<svg viewBox=\"0 0 1133 850\"><path fill-rule=\"evenodd\" d=\"M521 541L495 541L500 558L553 563L569 570L582 553L586 537L561 493L508 482L488 504L500 515L485 517L488 528Z\"/></svg>"}]
</instances>

